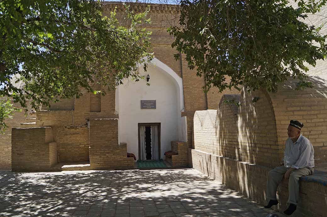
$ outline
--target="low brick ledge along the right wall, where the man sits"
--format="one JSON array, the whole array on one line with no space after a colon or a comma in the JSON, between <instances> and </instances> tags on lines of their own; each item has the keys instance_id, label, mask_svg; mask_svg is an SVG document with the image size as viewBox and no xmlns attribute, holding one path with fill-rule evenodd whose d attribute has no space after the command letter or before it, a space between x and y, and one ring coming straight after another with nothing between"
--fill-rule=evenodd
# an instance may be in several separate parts
<instances>
[{"instance_id":1,"label":"low brick ledge along the right wall, where the man sits","mask_svg":"<svg viewBox=\"0 0 327 217\"><path fill-rule=\"evenodd\" d=\"M192 163L195 169L213 179L221 180L229 188L246 195L262 205L267 203L267 176L271 168L195 149L192 149ZM314 175L317 173L316 171ZM300 179L300 203L297 208L297 217L326 216L326 183L327 178L322 176L318 176L316 179L311 178L310 182L306 181L305 178ZM281 203L279 205L280 210L287 209L287 199L288 183L283 181L278 188L278 200ZM275 208L278 207L275 206Z\"/></svg>"}]
</instances>

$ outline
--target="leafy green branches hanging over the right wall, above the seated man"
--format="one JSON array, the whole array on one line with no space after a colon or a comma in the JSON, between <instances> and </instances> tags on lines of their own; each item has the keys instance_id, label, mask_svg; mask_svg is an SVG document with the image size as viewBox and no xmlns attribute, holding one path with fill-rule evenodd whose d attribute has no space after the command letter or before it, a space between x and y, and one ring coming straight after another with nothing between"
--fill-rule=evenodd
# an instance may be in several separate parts
<instances>
[{"instance_id":1,"label":"leafy green branches hanging over the right wall, above the seated man","mask_svg":"<svg viewBox=\"0 0 327 217\"><path fill-rule=\"evenodd\" d=\"M204 76L204 91L212 86L220 92L240 86L276 91L288 77L299 80L299 89L311 87L307 64L325 59L327 46L321 26L305 21L326 1L295 0L297 8L289 2L182 0L181 26L168 30L176 39L172 47Z\"/></svg>"}]
</instances>

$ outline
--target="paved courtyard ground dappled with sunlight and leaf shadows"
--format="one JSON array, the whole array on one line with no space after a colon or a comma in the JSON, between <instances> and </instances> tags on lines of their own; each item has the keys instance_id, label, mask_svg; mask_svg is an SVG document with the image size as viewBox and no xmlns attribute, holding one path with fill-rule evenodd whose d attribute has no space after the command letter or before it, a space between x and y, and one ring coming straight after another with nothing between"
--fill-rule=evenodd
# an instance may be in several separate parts
<instances>
[{"instance_id":1,"label":"paved courtyard ground dappled with sunlight and leaf shadows","mask_svg":"<svg viewBox=\"0 0 327 217\"><path fill-rule=\"evenodd\" d=\"M248 217L272 212L194 169L0 172L0 216Z\"/></svg>"}]
</instances>

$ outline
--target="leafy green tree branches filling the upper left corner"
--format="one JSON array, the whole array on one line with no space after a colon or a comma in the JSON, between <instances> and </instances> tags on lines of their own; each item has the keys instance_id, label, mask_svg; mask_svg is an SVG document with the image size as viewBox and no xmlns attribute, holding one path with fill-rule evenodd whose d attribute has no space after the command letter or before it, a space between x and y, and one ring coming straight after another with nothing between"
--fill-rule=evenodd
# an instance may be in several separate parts
<instances>
[{"instance_id":1,"label":"leafy green tree branches filling the upper left corner","mask_svg":"<svg viewBox=\"0 0 327 217\"><path fill-rule=\"evenodd\" d=\"M60 97L79 97L101 84L108 90L124 78L138 80L145 69L151 32L140 28L149 8L133 13L126 6L122 26L116 11L103 14L93 0L2 0L0 2L0 95L33 108ZM23 89L10 80L26 83ZM105 92L102 92L105 94Z\"/></svg>"}]
</instances>

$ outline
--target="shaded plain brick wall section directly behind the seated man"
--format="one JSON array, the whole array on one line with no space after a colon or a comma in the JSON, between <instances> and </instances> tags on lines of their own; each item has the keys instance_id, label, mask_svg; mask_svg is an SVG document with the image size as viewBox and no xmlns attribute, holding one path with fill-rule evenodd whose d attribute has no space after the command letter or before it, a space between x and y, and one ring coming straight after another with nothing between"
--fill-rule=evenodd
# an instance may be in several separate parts
<instances>
[{"instance_id":1,"label":"shaded plain brick wall section directly behind the seated man","mask_svg":"<svg viewBox=\"0 0 327 217\"><path fill-rule=\"evenodd\" d=\"M289 121L304 124L301 130L315 149L315 164L327 162L327 80L318 76L309 79L315 87L296 91L297 81L289 79L277 93L269 93L275 111L278 145L284 148ZM282 158L283 152L280 152Z\"/></svg>"}]
</instances>

